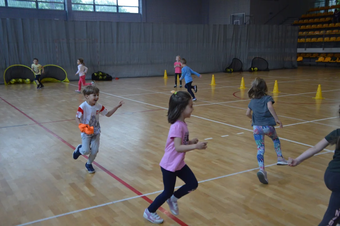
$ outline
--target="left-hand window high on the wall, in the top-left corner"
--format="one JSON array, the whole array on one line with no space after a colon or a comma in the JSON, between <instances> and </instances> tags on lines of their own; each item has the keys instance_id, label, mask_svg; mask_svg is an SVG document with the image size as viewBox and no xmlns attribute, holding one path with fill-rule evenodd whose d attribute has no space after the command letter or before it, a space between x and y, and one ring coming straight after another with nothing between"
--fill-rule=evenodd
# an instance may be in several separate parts
<instances>
[{"instance_id":1,"label":"left-hand window high on the wall, in the top-left corner","mask_svg":"<svg viewBox=\"0 0 340 226\"><path fill-rule=\"evenodd\" d=\"M65 10L64 0L0 0L0 6L14 8L37 8L44 10Z\"/></svg>"}]
</instances>

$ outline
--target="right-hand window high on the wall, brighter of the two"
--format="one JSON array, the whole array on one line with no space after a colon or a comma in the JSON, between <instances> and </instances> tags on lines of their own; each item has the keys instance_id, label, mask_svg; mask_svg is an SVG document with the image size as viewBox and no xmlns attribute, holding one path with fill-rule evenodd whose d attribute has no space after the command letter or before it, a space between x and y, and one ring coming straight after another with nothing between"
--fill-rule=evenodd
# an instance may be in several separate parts
<instances>
[{"instance_id":1,"label":"right-hand window high on the wall, brighter of the two","mask_svg":"<svg viewBox=\"0 0 340 226\"><path fill-rule=\"evenodd\" d=\"M72 0L73 11L138 13L139 0Z\"/></svg>"}]
</instances>

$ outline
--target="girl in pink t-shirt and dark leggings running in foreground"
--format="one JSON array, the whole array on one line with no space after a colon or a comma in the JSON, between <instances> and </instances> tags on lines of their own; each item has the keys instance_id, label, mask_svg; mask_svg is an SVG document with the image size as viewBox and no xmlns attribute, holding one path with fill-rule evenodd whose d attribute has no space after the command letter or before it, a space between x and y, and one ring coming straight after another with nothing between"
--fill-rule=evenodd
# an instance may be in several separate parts
<instances>
[{"instance_id":1,"label":"girl in pink t-shirt and dark leggings running in foreground","mask_svg":"<svg viewBox=\"0 0 340 226\"><path fill-rule=\"evenodd\" d=\"M177 200L198 187L197 179L184 162L184 157L186 152L206 149L207 142L198 142L196 138L189 140L188 126L184 119L190 118L192 111L192 99L188 92L178 91L171 95L168 109L168 122L171 126L165 153L159 163L163 173L164 191L143 214L144 218L154 224L163 223L163 219L156 213L160 206L167 202L172 214L178 215ZM185 185L174 192L176 177L183 180Z\"/></svg>"}]
</instances>

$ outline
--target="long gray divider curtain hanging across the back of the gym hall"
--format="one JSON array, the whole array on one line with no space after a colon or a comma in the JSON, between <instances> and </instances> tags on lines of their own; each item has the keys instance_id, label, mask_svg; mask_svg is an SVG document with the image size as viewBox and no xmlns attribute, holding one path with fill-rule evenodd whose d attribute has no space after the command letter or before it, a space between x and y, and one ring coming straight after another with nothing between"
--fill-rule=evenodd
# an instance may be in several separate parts
<instances>
[{"instance_id":1,"label":"long gray divider curtain hanging across the back of the gym hall","mask_svg":"<svg viewBox=\"0 0 340 226\"><path fill-rule=\"evenodd\" d=\"M254 57L269 69L296 68L298 28L284 25L207 25L1 19L0 68L33 58L78 80L77 59L113 77L174 74L180 55L198 73L223 71L236 57L248 70ZM4 83L0 76L0 83Z\"/></svg>"}]
</instances>

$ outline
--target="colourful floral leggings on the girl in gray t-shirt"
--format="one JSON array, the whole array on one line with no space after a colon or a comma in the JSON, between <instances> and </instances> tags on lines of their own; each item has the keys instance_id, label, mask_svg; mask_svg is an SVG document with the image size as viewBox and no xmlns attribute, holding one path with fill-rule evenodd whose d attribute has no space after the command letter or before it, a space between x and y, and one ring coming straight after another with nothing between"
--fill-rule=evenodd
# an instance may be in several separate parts
<instances>
[{"instance_id":1,"label":"colourful floral leggings on the girl in gray t-shirt","mask_svg":"<svg viewBox=\"0 0 340 226\"><path fill-rule=\"evenodd\" d=\"M282 157L281 143L277 137L274 126L253 126L254 139L257 145L257 162L260 169L265 169L264 157L265 154L265 135L270 137L274 142L274 149L277 157Z\"/></svg>"}]
</instances>

